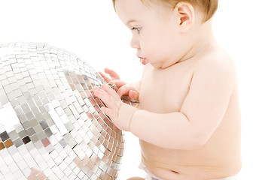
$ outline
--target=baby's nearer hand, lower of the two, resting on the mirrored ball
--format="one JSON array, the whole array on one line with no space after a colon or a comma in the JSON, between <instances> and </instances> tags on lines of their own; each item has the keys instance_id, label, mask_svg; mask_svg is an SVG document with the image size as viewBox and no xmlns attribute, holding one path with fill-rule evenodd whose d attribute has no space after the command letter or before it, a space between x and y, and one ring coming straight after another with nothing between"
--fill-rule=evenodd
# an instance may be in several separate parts
<instances>
[{"instance_id":1,"label":"baby's nearer hand, lower of the two, resting on the mirrored ball","mask_svg":"<svg viewBox=\"0 0 256 180\"><path fill-rule=\"evenodd\" d=\"M111 121L113 121L120 130L130 130L130 121L136 108L124 104L117 92L107 84L102 85L102 89L99 87L93 88L93 93L100 98L106 106L101 107L102 112L108 115Z\"/></svg>"}]
</instances>

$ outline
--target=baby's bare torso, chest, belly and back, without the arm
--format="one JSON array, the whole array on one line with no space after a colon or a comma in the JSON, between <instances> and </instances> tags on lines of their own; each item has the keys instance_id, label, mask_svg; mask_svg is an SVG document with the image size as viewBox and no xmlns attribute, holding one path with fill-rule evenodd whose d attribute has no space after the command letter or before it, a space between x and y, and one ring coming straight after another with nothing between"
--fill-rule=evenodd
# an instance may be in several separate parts
<instances>
[{"instance_id":1,"label":"baby's bare torso, chest, belly and back, without the arm","mask_svg":"<svg viewBox=\"0 0 256 180\"><path fill-rule=\"evenodd\" d=\"M207 61L205 57L211 53L233 66L228 55L221 51L214 46L199 58L191 58L166 69L147 65L140 89L140 108L154 113L179 112L199 61ZM236 82L236 74L233 78ZM160 148L140 140L142 161L152 173L163 179L203 180L234 175L241 168L240 124L236 84L224 118L206 144L193 150L178 150Z\"/></svg>"}]
</instances>

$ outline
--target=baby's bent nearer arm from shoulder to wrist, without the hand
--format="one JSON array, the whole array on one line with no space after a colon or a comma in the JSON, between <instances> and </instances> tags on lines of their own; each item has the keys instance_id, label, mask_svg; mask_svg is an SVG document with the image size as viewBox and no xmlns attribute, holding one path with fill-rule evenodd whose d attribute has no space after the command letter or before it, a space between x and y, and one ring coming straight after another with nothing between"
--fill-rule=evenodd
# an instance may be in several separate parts
<instances>
[{"instance_id":1,"label":"baby's bent nearer arm from shoulder to wrist, without the hand","mask_svg":"<svg viewBox=\"0 0 256 180\"><path fill-rule=\"evenodd\" d=\"M133 114L130 131L163 148L198 148L224 118L235 85L236 73L230 60L202 61L194 71L180 112L138 110Z\"/></svg>"}]
</instances>

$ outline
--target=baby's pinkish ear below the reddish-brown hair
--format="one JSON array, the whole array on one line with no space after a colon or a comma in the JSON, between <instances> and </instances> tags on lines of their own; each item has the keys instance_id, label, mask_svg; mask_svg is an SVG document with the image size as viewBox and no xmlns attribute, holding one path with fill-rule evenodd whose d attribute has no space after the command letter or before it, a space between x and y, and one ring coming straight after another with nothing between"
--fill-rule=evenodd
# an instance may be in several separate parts
<instances>
[{"instance_id":1,"label":"baby's pinkish ear below the reddish-brown hair","mask_svg":"<svg viewBox=\"0 0 256 180\"><path fill-rule=\"evenodd\" d=\"M187 2L179 2L173 9L177 23L182 32L188 31L194 26L194 7Z\"/></svg>"}]
</instances>

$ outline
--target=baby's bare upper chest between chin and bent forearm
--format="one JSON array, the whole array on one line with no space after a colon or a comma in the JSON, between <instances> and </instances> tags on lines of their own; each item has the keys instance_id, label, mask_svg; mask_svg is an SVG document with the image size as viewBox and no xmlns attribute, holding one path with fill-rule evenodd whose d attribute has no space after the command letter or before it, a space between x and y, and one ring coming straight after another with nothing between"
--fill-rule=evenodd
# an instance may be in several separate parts
<instances>
[{"instance_id":1,"label":"baby's bare upper chest between chin and bent forearm","mask_svg":"<svg viewBox=\"0 0 256 180\"><path fill-rule=\"evenodd\" d=\"M176 65L165 70L148 68L142 78L140 107L154 113L179 111L190 88L193 68Z\"/></svg>"}]
</instances>

